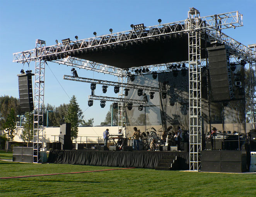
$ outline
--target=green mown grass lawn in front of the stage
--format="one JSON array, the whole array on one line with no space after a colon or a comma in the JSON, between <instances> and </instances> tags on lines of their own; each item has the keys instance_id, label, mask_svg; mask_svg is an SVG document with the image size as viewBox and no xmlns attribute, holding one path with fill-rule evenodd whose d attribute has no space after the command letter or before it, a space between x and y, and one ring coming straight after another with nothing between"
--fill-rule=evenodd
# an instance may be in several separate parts
<instances>
[{"instance_id":1,"label":"green mown grass lawn in front of the stage","mask_svg":"<svg viewBox=\"0 0 256 197\"><path fill-rule=\"evenodd\" d=\"M12 153L0 152L1 158ZM0 177L115 169L105 166L32 164L0 161ZM0 179L0 196L256 196L256 174L129 169Z\"/></svg>"}]
</instances>

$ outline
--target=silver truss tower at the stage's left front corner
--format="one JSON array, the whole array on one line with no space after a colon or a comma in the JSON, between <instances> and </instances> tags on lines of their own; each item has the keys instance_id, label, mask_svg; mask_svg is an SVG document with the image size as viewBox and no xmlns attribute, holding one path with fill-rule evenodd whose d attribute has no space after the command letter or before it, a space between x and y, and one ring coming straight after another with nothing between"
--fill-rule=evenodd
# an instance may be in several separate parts
<instances>
[{"instance_id":1,"label":"silver truss tower at the stage's left front corner","mask_svg":"<svg viewBox=\"0 0 256 197\"><path fill-rule=\"evenodd\" d=\"M42 47L45 47L45 41L37 39L36 56L41 55ZM43 149L44 68L45 62L37 58L34 81L33 163L42 163L40 151Z\"/></svg>"}]
</instances>

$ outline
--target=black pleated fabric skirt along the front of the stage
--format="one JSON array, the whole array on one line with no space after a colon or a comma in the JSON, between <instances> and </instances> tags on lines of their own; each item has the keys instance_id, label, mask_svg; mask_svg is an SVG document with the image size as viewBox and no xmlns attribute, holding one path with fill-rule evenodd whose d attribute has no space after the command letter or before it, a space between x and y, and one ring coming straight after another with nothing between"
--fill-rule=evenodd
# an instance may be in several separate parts
<instances>
[{"instance_id":1,"label":"black pleated fabric skirt along the front of the stage","mask_svg":"<svg viewBox=\"0 0 256 197\"><path fill-rule=\"evenodd\" d=\"M179 170L189 169L189 153L182 151L51 150L48 163L154 169L163 156L179 157Z\"/></svg>"}]
</instances>

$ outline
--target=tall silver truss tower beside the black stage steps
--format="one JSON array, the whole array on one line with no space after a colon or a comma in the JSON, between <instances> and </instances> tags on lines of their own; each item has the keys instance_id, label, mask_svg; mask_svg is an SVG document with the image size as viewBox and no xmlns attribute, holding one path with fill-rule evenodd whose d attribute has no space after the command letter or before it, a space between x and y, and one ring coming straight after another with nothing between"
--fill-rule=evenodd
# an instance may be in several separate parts
<instances>
[{"instance_id":1,"label":"tall silver truss tower beside the black stage steps","mask_svg":"<svg viewBox=\"0 0 256 197\"><path fill-rule=\"evenodd\" d=\"M201 168L201 32L200 12L190 8L186 20L189 59L189 170Z\"/></svg>"}]
</instances>

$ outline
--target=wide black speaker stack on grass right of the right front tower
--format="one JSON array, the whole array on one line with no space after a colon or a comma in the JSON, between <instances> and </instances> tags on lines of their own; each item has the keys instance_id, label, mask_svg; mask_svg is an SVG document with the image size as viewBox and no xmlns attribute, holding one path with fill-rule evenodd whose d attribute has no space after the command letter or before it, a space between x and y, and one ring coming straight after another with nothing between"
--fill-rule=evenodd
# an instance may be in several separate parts
<instances>
[{"instance_id":1,"label":"wide black speaker stack on grass right of the right front tower","mask_svg":"<svg viewBox=\"0 0 256 197\"><path fill-rule=\"evenodd\" d=\"M246 172L246 151L201 151L202 172Z\"/></svg>"}]
</instances>

